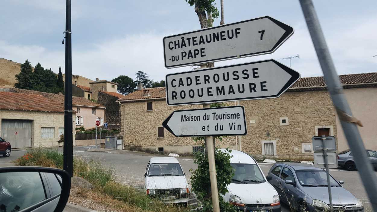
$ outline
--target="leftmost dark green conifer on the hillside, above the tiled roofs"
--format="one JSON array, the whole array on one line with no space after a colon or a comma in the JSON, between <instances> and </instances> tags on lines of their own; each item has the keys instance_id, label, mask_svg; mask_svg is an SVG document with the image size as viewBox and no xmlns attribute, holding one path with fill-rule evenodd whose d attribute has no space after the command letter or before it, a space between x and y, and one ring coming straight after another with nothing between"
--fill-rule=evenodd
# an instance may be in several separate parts
<instances>
[{"instance_id":1,"label":"leftmost dark green conifer on the hillside, above the tiled roofs","mask_svg":"<svg viewBox=\"0 0 377 212\"><path fill-rule=\"evenodd\" d=\"M21 64L21 72L16 74L15 77L18 81L18 83L14 84L16 88L31 90L40 83L33 72L33 67L29 60L25 60L25 63Z\"/></svg>"}]
</instances>

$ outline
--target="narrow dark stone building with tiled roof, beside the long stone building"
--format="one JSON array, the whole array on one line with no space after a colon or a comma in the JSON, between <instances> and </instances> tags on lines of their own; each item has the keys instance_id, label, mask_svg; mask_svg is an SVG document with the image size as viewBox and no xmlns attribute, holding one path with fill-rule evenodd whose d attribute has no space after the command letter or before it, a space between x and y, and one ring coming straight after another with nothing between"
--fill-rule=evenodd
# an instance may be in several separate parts
<instances>
[{"instance_id":1,"label":"narrow dark stone building with tiled roof, beside the long stone building","mask_svg":"<svg viewBox=\"0 0 377 212\"><path fill-rule=\"evenodd\" d=\"M106 107L104 121L107 123L107 129L120 128L120 104L116 100L123 97L124 95L116 92L98 91L97 103Z\"/></svg>"}]
</instances>

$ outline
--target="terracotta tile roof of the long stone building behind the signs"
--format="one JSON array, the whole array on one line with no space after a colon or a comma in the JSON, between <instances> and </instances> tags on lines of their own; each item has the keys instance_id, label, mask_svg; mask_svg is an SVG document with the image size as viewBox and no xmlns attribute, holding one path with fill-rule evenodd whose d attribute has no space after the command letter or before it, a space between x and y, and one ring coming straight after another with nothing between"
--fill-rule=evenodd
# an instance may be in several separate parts
<instances>
[{"instance_id":1,"label":"terracotta tile roof of the long stone building behind the signs","mask_svg":"<svg viewBox=\"0 0 377 212\"><path fill-rule=\"evenodd\" d=\"M340 82L343 85L363 84L363 83L376 83L377 84L377 72L362 73L362 74L345 74L345 75L339 75L339 78L340 78ZM300 78L296 83L294 83L290 89L318 87L318 86L326 86L326 82L323 77L303 77L303 78ZM150 92L149 96L144 95L144 91L147 89L149 89L149 92ZM123 98L119 98L118 101L166 97L165 87L146 88L144 89L144 91L132 92L130 94L127 94Z\"/></svg>"}]
</instances>

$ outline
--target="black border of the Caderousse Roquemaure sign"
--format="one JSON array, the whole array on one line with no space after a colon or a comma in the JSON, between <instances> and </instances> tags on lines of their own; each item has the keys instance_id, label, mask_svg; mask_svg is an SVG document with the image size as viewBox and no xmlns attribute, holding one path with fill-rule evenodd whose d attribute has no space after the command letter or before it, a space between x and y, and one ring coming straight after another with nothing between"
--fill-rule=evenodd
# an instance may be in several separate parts
<instances>
[{"instance_id":1,"label":"black border of the Caderousse Roquemaure sign","mask_svg":"<svg viewBox=\"0 0 377 212\"><path fill-rule=\"evenodd\" d=\"M219 67L214 67L214 68L206 68L206 69L196 69L193 71L185 71L185 72L178 72L178 73L173 73L173 74L167 74L165 77L165 83L168 83L167 77L170 75L178 75L178 74L187 74L187 73L192 73L192 72L200 72L200 71L208 71L208 70L214 70L214 69L220 69L220 68L230 68L230 67L236 67L236 66L243 66L243 65L250 65L250 64L256 64L256 63L265 63L265 62L270 62L272 61L275 63L277 66L282 68L284 71L286 71L288 74L291 75L291 78L285 83L282 89L276 94L276 95L270 95L270 96L261 96L261 97L248 97L248 98L230 98L227 100L210 100L210 101L193 101L189 103L169 103L169 88L168 85L166 84L166 104L169 106L176 106L176 105L189 105L189 104L207 104L207 103L215 103L215 102L225 102L225 101L239 101L239 100L255 100L255 99L264 99L264 98L277 98L280 97L285 91L290 88L293 83L295 83L297 80L300 79L300 73L297 71L294 71L288 66L283 65L282 63L279 63L278 61L274 59L269 59L269 60L260 60L260 61L254 61L250 63L240 63L240 64L235 64L235 65L228 65L228 66L219 66Z\"/></svg>"}]
</instances>

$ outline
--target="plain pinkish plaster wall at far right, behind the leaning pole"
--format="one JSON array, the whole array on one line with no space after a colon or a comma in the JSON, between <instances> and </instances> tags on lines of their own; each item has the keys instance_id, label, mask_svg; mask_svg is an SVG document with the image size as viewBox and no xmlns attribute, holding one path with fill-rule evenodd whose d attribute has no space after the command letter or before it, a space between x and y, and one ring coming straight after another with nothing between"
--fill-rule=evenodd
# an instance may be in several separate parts
<instances>
[{"instance_id":1,"label":"plain pinkish plaster wall at far right, behind the leaning pole","mask_svg":"<svg viewBox=\"0 0 377 212\"><path fill-rule=\"evenodd\" d=\"M352 115L363 127L358 127L366 149L377 150L377 88L345 89L344 93L351 107ZM349 149L339 117L336 117L339 151Z\"/></svg>"}]
</instances>

